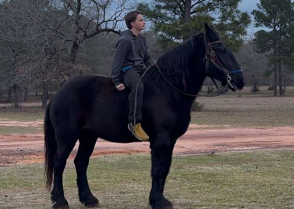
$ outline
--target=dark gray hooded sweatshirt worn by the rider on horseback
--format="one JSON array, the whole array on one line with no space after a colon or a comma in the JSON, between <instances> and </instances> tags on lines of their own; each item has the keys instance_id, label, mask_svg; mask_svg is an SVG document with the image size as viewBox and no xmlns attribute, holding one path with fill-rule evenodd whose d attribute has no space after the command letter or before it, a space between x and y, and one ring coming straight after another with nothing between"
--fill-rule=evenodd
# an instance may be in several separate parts
<instances>
[{"instance_id":1,"label":"dark gray hooded sweatshirt worn by the rider on horseback","mask_svg":"<svg viewBox=\"0 0 294 209\"><path fill-rule=\"evenodd\" d=\"M117 87L123 83L123 68L133 67L144 69L154 62L146 44L146 38L139 34L137 37L130 30L123 31L116 44L116 51L112 61L111 77Z\"/></svg>"}]
</instances>

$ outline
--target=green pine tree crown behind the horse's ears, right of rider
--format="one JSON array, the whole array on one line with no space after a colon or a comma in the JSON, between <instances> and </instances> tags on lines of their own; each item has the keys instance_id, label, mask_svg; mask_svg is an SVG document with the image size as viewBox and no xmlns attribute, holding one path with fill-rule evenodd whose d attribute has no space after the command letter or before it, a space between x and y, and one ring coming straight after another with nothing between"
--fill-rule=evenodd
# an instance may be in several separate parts
<instances>
[{"instance_id":1,"label":"green pine tree crown behind the horse's ears, right of rider","mask_svg":"<svg viewBox=\"0 0 294 209\"><path fill-rule=\"evenodd\" d=\"M161 35L161 45L169 48L204 30L204 23L212 24L221 39L234 50L243 43L249 15L238 10L241 0L153 0L151 6L141 3L152 23L152 29Z\"/></svg>"}]
</instances>

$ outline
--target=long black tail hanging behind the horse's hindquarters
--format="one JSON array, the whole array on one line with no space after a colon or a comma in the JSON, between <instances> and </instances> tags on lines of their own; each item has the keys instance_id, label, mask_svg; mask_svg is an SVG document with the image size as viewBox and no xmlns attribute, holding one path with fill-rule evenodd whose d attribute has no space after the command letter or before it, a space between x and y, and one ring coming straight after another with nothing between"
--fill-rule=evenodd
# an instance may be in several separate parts
<instances>
[{"instance_id":1,"label":"long black tail hanging behind the horse's hindquarters","mask_svg":"<svg viewBox=\"0 0 294 209\"><path fill-rule=\"evenodd\" d=\"M46 189L50 190L53 181L53 170L54 170L54 156L57 150L57 143L55 139L54 128L51 124L49 116L50 102L47 106L45 118L44 118L44 135L45 135L45 172L44 178L46 178Z\"/></svg>"}]
</instances>

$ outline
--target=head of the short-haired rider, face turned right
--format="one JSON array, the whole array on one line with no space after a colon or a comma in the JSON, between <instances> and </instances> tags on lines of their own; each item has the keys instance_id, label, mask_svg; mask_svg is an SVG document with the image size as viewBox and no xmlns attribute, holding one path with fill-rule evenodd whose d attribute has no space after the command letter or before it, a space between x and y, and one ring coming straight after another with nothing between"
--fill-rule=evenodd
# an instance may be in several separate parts
<instances>
[{"instance_id":1,"label":"head of the short-haired rider, face turned right","mask_svg":"<svg viewBox=\"0 0 294 209\"><path fill-rule=\"evenodd\" d=\"M139 31L145 28L145 21L143 18L143 13L141 11L131 11L125 17L125 24L128 29L135 28Z\"/></svg>"}]
</instances>

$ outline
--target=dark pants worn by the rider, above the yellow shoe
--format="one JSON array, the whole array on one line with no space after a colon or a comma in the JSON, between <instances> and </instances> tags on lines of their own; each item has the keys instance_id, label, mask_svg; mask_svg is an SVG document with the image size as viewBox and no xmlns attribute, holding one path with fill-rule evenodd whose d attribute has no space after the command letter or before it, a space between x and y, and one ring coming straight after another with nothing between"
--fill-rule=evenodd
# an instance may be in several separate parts
<instances>
[{"instance_id":1,"label":"dark pants worn by the rider, above the yellow shoe","mask_svg":"<svg viewBox=\"0 0 294 209\"><path fill-rule=\"evenodd\" d=\"M135 96L138 81L140 79L141 69L129 69L123 74L123 83L130 88L131 92L128 97L129 114L128 119L130 122L134 121L134 109L135 109ZM136 123L142 121L142 103L143 103L144 85L142 81L138 87L137 93L137 109L136 109Z\"/></svg>"}]
</instances>

